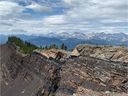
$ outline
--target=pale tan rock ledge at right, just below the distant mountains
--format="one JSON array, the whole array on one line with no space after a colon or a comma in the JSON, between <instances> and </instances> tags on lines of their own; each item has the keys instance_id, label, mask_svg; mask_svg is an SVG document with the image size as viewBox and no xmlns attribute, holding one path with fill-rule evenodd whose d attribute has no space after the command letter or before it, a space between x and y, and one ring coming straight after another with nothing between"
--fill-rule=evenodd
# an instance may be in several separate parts
<instances>
[{"instance_id":1,"label":"pale tan rock ledge at right, just below the distant mountains","mask_svg":"<svg viewBox=\"0 0 128 96\"><path fill-rule=\"evenodd\" d=\"M128 63L128 48L125 47L95 46L81 44L76 46L74 50L76 49L81 56L91 56L108 61L119 61Z\"/></svg>"}]
</instances>

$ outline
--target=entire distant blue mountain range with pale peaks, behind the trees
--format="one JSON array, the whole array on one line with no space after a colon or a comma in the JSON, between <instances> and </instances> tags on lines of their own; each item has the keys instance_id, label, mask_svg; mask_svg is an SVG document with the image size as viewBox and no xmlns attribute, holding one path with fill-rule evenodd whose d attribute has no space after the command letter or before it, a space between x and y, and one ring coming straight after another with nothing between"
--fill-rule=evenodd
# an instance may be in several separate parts
<instances>
[{"instance_id":1,"label":"entire distant blue mountain range with pale peaks, behind the trees","mask_svg":"<svg viewBox=\"0 0 128 96\"><path fill-rule=\"evenodd\" d=\"M128 47L128 35L125 33L48 33L46 35L16 35L25 41L29 41L38 46L50 44L60 45L65 43L69 49L74 48L77 44L94 44L94 45L124 45ZM8 36L0 35L1 43L7 41Z\"/></svg>"}]
</instances>

